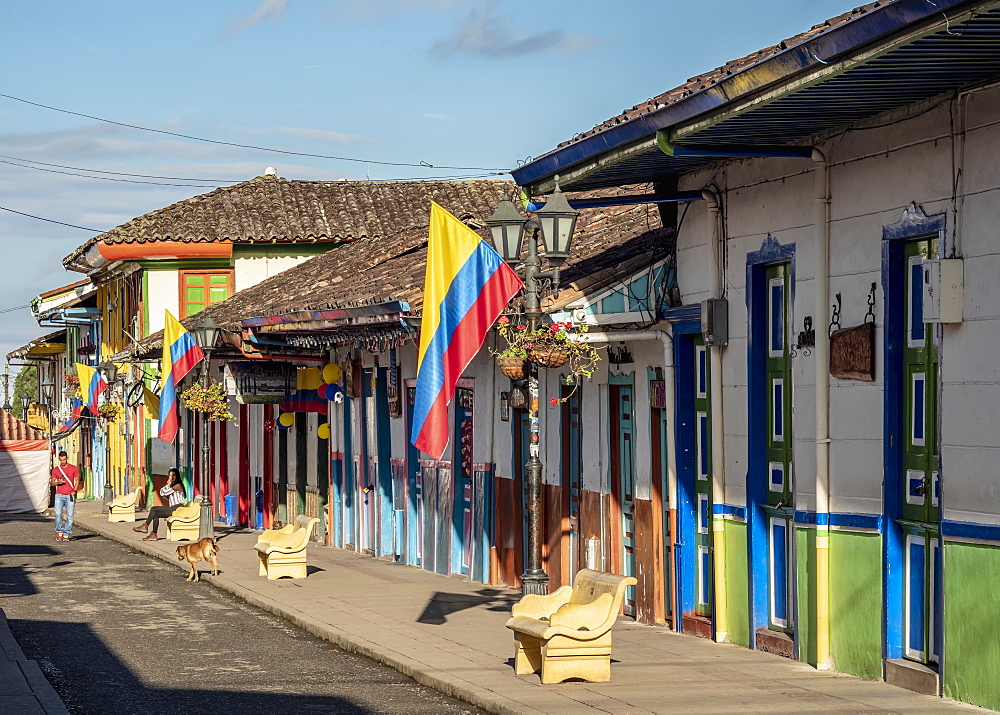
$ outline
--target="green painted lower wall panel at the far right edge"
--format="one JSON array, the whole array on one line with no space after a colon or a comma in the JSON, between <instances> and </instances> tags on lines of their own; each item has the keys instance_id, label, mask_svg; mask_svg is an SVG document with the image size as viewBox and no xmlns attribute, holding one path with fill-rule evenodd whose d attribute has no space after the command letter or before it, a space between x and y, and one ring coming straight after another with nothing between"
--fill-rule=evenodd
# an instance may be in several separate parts
<instances>
[{"instance_id":1,"label":"green painted lower wall panel at the far right edge","mask_svg":"<svg viewBox=\"0 0 1000 715\"><path fill-rule=\"evenodd\" d=\"M944 547L944 694L1000 710L1000 549Z\"/></svg>"}]
</instances>

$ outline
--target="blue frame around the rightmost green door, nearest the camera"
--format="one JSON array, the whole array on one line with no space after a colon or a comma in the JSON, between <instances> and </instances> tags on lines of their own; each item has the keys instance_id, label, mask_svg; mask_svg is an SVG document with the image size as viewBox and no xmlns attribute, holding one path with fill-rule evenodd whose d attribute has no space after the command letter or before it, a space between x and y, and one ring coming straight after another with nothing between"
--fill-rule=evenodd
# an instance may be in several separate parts
<instances>
[{"instance_id":1,"label":"blue frame around the rightmost green door, nearest the camera","mask_svg":"<svg viewBox=\"0 0 1000 715\"><path fill-rule=\"evenodd\" d=\"M882 587L883 587L883 655L886 659L903 657L903 622L905 619L903 573L906 560L906 535L897 519L902 517L903 489L903 439L904 415L903 384L900 371L904 328L904 263L903 244L917 238L938 238L944 245L946 220L944 214L927 216L916 204L903 212L894 224L882 227L882 295L884 296L885 330L883 340L885 360L884 379L884 427L883 427L883 479L882 509ZM936 438L936 437L935 437ZM940 512L943 510L939 510ZM940 520L938 528L940 533ZM938 583L942 574L938 573ZM935 604L939 609L940 604ZM941 628L941 619L937 619ZM941 666L944 667L943 659Z\"/></svg>"}]
</instances>

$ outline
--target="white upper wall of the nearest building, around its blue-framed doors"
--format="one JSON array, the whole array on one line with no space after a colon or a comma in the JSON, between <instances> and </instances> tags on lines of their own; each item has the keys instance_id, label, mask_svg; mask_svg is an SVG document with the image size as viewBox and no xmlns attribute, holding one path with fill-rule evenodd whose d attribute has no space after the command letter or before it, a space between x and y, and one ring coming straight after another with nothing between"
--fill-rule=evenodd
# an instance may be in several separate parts
<instances>
[{"instance_id":1,"label":"white upper wall of the nearest building, around its blue-framed doors","mask_svg":"<svg viewBox=\"0 0 1000 715\"><path fill-rule=\"evenodd\" d=\"M880 513L883 473L882 227L916 202L927 215L947 214L943 250L957 248L966 273L965 321L942 330L940 350L941 455L944 518L1000 523L1000 177L995 147L1000 132L1000 91L967 102L964 151L950 136L948 105L889 127L853 131L820 148L831 162L830 294L842 296L841 325L864 321L867 295L876 283L877 373L874 383L831 378L831 511ZM958 126L958 125L957 125ZM958 126L960 130L961 127ZM792 334L811 316L817 330L830 321L816 315L813 294L813 167L808 160L755 159L685 177L681 189L713 180L726 216L725 284L730 343L723 351L726 501L745 499L747 454L746 255L768 234L794 243ZM959 177L952 199L952 180ZM964 194L964 197L962 196ZM708 297L712 256L707 211L693 203L678 237L678 275L685 304ZM793 360L794 469L800 509L814 509L815 362Z\"/></svg>"}]
</instances>

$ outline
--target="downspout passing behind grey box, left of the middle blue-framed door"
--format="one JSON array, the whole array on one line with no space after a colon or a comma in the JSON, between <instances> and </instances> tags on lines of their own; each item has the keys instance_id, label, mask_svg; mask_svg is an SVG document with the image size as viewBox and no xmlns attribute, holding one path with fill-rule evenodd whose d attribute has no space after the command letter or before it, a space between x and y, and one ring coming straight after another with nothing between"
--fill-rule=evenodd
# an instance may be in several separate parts
<instances>
[{"instance_id":1,"label":"downspout passing behind grey box, left of the middle blue-framed door","mask_svg":"<svg viewBox=\"0 0 1000 715\"><path fill-rule=\"evenodd\" d=\"M708 205L712 222L712 272L709 275L709 296L722 297L722 212L718 195L705 189L702 192ZM728 608L726 602L726 522L722 505L725 504L725 452L724 422L722 419L722 347L709 349L710 403L712 407L712 573L714 578L715 640L724 643L729 638Z\"/></svg>"}]
</instances>

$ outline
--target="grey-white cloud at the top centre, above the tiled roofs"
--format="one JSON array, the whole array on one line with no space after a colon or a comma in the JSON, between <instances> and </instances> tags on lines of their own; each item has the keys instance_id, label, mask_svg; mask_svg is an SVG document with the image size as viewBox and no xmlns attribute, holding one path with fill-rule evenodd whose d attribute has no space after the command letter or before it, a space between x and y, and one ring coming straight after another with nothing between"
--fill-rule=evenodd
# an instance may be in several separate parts
<instances>
[{"instance_id":1,"label":"grey-white cloud at the top centre, above the tiled roofs","mask_svg":"<svg viewBox=\"0 0 1000 715\"><path fill-rule=\"evenodd\" d=\"M563 30L532 32L515 27L514 16L497 12L498 4L498 0L483 0L476 5L455 32L431 46L431 56L443 59L472 55L497 59L540 52L575 54L606 41Z\"/></svg>"}]
</instances>

